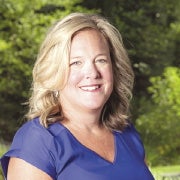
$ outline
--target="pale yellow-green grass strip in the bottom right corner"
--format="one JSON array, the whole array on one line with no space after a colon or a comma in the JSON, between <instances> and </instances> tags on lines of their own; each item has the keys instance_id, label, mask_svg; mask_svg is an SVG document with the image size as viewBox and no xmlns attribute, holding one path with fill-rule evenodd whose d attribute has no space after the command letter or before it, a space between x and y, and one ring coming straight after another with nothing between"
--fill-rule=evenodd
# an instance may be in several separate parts
<instances>
[{"instance_id":1,"label":"pale yellow-green grass strip in the bottom right corner","mask_svg":"<svg viewBox=\"0 0 180 180\"><path fill-rule=\"evenodd\" d=\"M180 165L158 166L150 168L155 180L162 180L162 174L180 173Z\"/></svg>"}]
</instances>

